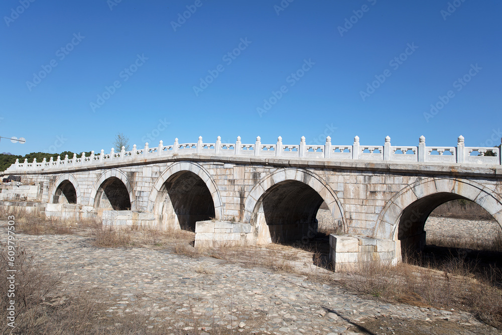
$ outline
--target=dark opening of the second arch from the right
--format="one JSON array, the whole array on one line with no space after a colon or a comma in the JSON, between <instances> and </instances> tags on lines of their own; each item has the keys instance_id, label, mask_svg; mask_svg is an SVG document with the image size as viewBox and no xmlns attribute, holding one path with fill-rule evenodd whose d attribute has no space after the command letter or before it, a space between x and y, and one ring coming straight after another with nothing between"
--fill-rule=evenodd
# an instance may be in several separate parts
<instances>
[{"instance_id":1,"label":"dark opening of the second arch from the right","mask_svg":"<svg viewBox=\"0 0 502 335\"><path fill-rule=\"evenodd\" d=\"M319 208L324 199L309 185L297 180L279 182L262 195L255 212L258 243L284 243L329 253L329 234L319 234ZM327 206L326 206L327 208ZM334 227L329 210L322 220ZM325 250L324 250L325 249Z\"/></svg>"}]
</instances>

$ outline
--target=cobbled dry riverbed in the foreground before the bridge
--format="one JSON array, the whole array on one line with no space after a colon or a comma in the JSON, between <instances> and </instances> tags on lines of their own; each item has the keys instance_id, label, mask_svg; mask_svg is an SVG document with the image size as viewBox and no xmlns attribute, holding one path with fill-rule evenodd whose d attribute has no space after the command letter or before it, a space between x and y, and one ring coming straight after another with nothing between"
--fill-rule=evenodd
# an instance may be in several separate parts
<instances>
[{"instance_id":1,"label":"cobbled dry riverbed in the foreground before the bridge","mask_svg":"<svg viewBox=\"0 0 502 335\"><path fill-rule=\"evenodd\" d=\"M1 222L6 232L6 222ZM7 234L0 235L5 243ZM83 292L107 316L140 311L166 334L494 334L467 312L389 304L306 276L148 248L96 248L88 236L19 234L44 266L67 271L65 294ZM312 259L305 258L312 263ZM311 265L313 266L313 265ZM313 266L315 267L315 266ZM325 271L325 270L324 270ZM337 284L338 283L338 284ZM106 315L105 315L106 317Z\"/></svg>"}]
</instances>

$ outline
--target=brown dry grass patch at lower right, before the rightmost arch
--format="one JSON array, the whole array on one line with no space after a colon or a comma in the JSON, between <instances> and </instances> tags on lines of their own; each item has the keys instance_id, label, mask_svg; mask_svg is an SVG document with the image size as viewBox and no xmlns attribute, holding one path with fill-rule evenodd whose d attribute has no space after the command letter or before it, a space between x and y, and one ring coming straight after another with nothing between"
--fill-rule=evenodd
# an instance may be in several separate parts
<instances>
[{"instance_id":1,"label":"brown dry grass patch at lower right, before the rightmost arch","mask_svg":"<svg viewBox=\"0 0 502 335\"><path fill-rule=\"evenodd\" d=\"M370 261L347 276L347 282L360 293L387 301L467 309L480 320L502 329L502 290L496 283L500 270L491 268L483 275L477 270L462 260L451 260L440 270Z\"/></svg>"}]
</instances>

